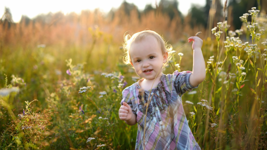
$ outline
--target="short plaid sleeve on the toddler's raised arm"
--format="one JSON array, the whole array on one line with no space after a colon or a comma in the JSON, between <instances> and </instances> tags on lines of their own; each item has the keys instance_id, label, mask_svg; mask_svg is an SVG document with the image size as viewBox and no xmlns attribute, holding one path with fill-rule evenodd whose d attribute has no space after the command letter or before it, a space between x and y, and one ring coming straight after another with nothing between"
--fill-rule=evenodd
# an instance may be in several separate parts
<instances>
[{"instance_id":1,"label":"short plaid sleeve on the toddler's raised arm","mask_svg":"<svg viewBox=\"0 0 267 150\"><path fill-rule=\"evenodd\" d=\"M173 73L174 88L177 94L179 94L179 96L182 96L186 91L190 92L199 86L197 85L196 87L193 87L189 83L189 77L191 74L192 74L192 71L178 72L177 70Z\"/></svg>"}]
</instances>

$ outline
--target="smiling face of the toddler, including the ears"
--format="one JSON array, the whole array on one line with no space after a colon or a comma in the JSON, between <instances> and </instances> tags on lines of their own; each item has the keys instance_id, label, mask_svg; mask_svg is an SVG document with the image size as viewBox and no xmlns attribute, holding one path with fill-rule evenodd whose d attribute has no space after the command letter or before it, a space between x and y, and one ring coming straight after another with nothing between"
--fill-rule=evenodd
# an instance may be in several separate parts
<instances>
[{"instance_id":1,"label":"smiling face of the toddler, including the ears","mask_svg":"<svg viewBox=\"0 0 267 150\"><path fill-rule=\"evenodd\" d=\"M162 65L168 58L168 52L162 54L157 39L148 36L141 41L131 44L131 64L138 76L147 80L154 79L162 73Z\"/></svg>"}]
</instances>

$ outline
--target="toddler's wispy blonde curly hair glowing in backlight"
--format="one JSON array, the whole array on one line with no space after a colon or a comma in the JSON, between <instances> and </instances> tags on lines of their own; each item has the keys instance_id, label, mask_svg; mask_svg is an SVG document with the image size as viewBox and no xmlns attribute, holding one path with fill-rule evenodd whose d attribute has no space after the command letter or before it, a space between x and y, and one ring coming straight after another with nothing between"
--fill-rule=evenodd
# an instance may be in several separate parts
<instances>
[{"instance_id":1,"label":"toddler's wispy blonde curly hair glowing in backlight","mask_svg":"<svg viewBox=\"0 0 267 150\"><path fill-rule=\"evenodd\" d=\"M165 52L170 52L172 50L172 45L171 44L167 44L165 42L165 40L163 39L163 37L161 37L158 33L156 33L155 31L151 31L151 30L144 30L141 32L137 32L135 33L132 37L129 34L124 34L124 43L123 43L123 49L125 52L125 55L123 57L123 62L125 64L130 64L131 63L131 57L130 57L130 47L131 44L134 42L138 42L142 39L144 39L145 37L148 36L153 36L157 39L159 45L161 46L161 51L162 54L164 54ZM167 66L168 63L165 63L165 66Z\"/></svg>"}]
</instances>

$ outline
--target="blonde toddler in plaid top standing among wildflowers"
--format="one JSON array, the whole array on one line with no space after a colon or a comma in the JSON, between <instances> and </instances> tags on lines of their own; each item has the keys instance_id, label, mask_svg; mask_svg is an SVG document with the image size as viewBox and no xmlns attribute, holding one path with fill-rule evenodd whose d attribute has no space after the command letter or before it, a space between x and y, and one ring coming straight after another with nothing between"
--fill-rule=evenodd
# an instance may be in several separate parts
<instances>
[{"instance_id":1,"label":"blonde toddler in plaid top standing among wildflowers","mask_svg":"<svg viewBox=\"0 0 267 150\"><path fill-rule=\"evenodd\" d=\"M122 91L119 118L128 125L138 124L136 150L201 150L188 126L181 99L186 91L197 88L206 76L201 51L203 41L190 37L188 42L191 41L193 71L164 75L162 67L172 46L150 30L125 36L124 62L131 64L142 79Z\"/></svg>"}]
</instances>

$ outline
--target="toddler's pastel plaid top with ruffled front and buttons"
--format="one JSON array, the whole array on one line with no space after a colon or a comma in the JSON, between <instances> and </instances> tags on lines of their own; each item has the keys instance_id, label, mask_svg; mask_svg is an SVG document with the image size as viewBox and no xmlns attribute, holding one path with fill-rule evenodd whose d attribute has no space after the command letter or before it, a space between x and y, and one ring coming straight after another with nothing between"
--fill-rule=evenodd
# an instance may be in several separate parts
<instances>
[{"instance_id":1,"label":"toddler's pastel plaid top with ruffled front and buttons","mask_svg":"<svg viewBox=\"0 0 267 150\"><path fill-rule=\"evenodd\" d=\"M201 150L188 126L181 99L186 91L198 87L190 85L191 74L192 71L175 71L172 75L162 74L161 82L151 90L146 124L144 108L150 90L142 90L139 80L122 91L121 105L123 102L128 103L132 112L137 115L136 150ZM144 98L140 96L140 90L144 91L142 95Z\"/></svg>"}]
</instances>

